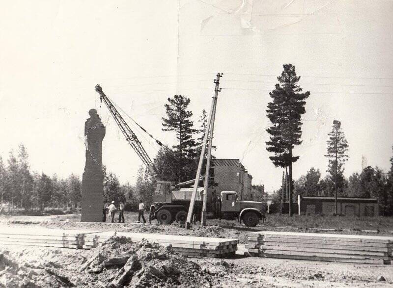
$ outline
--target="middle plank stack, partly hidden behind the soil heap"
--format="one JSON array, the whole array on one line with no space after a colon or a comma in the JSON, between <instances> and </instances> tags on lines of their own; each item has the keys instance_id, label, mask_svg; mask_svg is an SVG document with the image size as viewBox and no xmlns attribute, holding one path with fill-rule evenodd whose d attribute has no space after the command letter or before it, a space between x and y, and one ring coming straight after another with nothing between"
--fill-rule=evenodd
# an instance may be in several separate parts
<instances>
[{"instance_id":1,"label":"middle plank stack, partly hidden behind the soil heap","mask_svg":"<svg viewBox=\"0 0 393 288\"><path fill-rule=\"evenodd\" d=\"M93 241L86 240L87 237L94 237L94 235L96 236L96 238L94 238ZM110 237L109 234L95 233L94 235L85 236L85 249L96 247L94 246L95 243L99 245L99 243L105 241L105 237ZM224 258L234 256L237 250L238 243L238 239L176 236L147 233L116 232L116 236L129 237L134 242L139 242L142 239L146 239L150 242L156 242L163 246L172 245L172 249L174 251L191 257Z\"/></svg>"}]
</instances>

